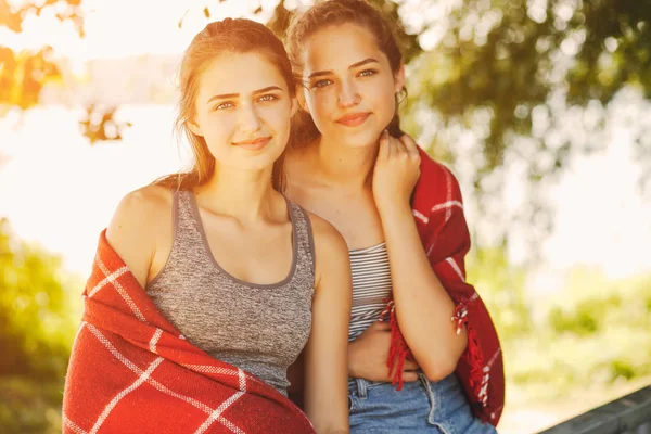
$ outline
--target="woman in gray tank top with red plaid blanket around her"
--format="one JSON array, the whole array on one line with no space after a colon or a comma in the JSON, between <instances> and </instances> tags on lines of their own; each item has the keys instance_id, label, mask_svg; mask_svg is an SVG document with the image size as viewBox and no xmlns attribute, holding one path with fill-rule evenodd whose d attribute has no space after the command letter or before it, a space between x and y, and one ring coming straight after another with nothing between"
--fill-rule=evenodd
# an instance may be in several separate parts
<instances>
[{"instance_id":1,"label":"woman in gray tank top with red plaid blanket around her","mask_svg":"<svg viewBox=\"0 0 651 434\"><path fill-rule=\"evenodd\" d=\"M348 432L345 241L282 194L296 108L282 42L208 24L180 69L193 166L102 233L66 379L66 432ZM305 416L286 398L306 357Z\"/></svg>"}]
</instances>

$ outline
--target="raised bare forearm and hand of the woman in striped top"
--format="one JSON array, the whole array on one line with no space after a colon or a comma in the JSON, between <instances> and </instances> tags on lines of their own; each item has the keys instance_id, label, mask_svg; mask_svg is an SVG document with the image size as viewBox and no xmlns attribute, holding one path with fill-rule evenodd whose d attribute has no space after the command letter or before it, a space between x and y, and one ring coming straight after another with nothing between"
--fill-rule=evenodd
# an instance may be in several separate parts
<instances>
[{"instance_id":1,"label":"raised bare forearm and hand of the woman in striped top","mask_svg":"<svg viewBox=\"0 0 651 434\"><path fill-rule=\"evenodd\" d=\"M468 337L451 321L455 304L432 270L409 197L420 174L420 155L409 137L381 140L373 193L388 252L393 295L400 331L425 375L438 381L452 373Z\"/></svg>"}]
</instances>

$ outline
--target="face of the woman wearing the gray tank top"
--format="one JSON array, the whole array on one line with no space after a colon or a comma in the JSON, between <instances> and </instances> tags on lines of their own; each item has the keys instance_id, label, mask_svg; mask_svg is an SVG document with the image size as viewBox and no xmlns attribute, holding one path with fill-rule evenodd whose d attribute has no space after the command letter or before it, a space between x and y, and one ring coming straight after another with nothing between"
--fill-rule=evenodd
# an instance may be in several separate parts
<instances>
[{"instance_id":1,"label":"face of the woman wearing the gray tank top","mask_svg":"<svg viewBox=\"0 0 651 434\"><path fill-rule=\"evenodd\" d=\"M190 129L219 165L270 167L290 137L295 101L276 65L260 53L224 53L199 77Z\"/></svg>"}]
</instances>

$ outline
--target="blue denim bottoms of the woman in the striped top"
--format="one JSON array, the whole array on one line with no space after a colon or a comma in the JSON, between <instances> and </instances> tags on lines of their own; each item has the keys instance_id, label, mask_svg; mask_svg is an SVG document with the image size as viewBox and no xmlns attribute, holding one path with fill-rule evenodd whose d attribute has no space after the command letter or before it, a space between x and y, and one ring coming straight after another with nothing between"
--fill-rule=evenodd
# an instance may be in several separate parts
<instances>
[{"instance_id":1,"label":"blue denim bottoms of the woman in the striped top","mask_svg":"<svg viewBox=\"0 0 651 434\"><path fill-rule=\"evenodd\" d=\"M496 434L473 417L454 373L431 382L423 373L401 391L390 383L348 382L350 433Z\"/></svg>"}]
</instances>

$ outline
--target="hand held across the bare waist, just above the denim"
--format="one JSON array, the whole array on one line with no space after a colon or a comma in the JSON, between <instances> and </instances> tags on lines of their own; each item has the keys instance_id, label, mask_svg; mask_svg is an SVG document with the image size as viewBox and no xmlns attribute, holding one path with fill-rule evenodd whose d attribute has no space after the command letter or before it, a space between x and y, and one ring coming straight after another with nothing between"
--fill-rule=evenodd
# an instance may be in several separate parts
<instances>
[{"instance_id":1,"label":"hand held across the bare waist, just above the denim","mask_svg":"<svg viewBox=\"0 0 651 434\"><path fill-rule=\"evenodd\" d=\"M390 346L391 326L381 321L373 322L355 341L348 344L348 375L391 383L395 367L390 374L386 367ZM405 360L403 380L405 382L417 381L417 370L418 365L416 362Z\"/></svg>"}]
</instances>

